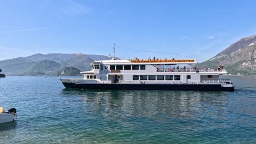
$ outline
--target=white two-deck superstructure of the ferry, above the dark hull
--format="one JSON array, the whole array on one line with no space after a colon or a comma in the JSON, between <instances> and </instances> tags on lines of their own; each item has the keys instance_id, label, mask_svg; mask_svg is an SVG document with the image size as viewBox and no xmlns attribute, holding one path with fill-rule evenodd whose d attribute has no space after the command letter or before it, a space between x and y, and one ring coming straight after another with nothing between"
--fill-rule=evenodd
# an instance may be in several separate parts
<instances>
[{"instance_id":1,"label":"white two-deck superstructure of the ferry, above the dark hull","mask_svg":"<svg viewBox=\"0 0 256 144\"><path fill-rule=\"evenodd\" d=\"M219 83L225 70L194 69L194 59L172 61L108 60L90 63L84 71L86 83Z\"/></svg>"}]
</instances>

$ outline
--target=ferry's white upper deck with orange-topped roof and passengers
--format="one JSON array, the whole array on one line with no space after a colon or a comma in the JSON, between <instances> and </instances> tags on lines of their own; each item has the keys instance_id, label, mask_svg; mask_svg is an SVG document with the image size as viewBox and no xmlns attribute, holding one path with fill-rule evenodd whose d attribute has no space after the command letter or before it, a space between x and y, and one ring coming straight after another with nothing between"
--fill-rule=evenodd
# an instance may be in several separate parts
<instances>
[{"instance_id":1,"label":"ferry's white upper deck with orange-topped roof and passengers","mask_svg":"<svg viewBox=\"0 0 256 144\"><path fill-rule=\"evenodd\" d=\"M92 70L97 69L108 69L109 73L121 73L128 72L127 70L143 70L139 72L194 72L194 73L222 73L227 74L226 70L223 68L197 68L193 65L197 64L195 59L165 59L165 60L104 60L95 61L90 63L92 65ZM100 68L102 67L102 68ZM146 70L146 67L148 68ZM153 68L153 69L152 69ZM155 70L154 70L155 69ZM146 71L144 71L146 70ZM81 74L86 74L89 71L83 71ZM132 71L130 71L132 72ZM134 71L133 71L134 72ZM90 71L89 73L92 73Z\"/></svg>"}]
</instances>

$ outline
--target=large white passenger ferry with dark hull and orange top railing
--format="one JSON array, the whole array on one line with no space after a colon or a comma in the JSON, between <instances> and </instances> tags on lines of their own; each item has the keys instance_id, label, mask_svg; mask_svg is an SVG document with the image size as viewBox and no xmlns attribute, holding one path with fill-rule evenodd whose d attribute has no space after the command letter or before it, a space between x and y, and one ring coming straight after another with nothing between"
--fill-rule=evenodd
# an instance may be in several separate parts
<instances>
[{"instance_id":1,"label":"large white passenger ferry with dark hull and orange top railing","mask_svg":"<svg viewBox=\"0 0 256 144\"><path fill-rule=\"evenodd\" d=\"M234 91L225 69L193 68L195 59L103 60L91 62L83 79L61 79L66 88Z\"/></svg>"}]
</instances>

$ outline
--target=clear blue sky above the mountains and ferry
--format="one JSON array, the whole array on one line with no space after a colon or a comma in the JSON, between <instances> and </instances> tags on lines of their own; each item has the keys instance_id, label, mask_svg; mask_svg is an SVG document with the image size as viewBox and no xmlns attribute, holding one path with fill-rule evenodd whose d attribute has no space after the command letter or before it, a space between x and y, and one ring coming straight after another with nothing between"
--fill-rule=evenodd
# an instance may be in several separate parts
<instances>
[{"instance_id":1,"label":"clear blue sky above the mountains and ferry","mask_svg":"<svg viewBox=\"0 0 256 144\"><path fill-rule=\"evenodd\" d=\"M256 34L256 1L0 1L0 60L117 46L207 60ZM173 57L118 49L120 58ZM180 57L183 58L183 57Z\"/></svg>"}]
</instances>

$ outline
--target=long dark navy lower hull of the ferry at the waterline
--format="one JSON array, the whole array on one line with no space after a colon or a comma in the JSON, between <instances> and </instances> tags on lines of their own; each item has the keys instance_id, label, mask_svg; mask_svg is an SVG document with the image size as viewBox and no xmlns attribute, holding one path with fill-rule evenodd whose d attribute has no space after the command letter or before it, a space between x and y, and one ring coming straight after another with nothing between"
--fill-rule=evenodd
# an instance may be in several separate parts
<instances>
[{"instance_id":1,"label":"long dark navy lower hull of the ferry at the waterline","mask_svg":"<svg viewBox=\"0 0 256 144\"><path fill-rule=\"evenodd\" d=\"M181 90L181 91L234 91L234 86L212 84L135 84L135 83L72 83L62 82L66 88L80 89L133 89L133 90Z\"/></svg>"}]
</instances>

